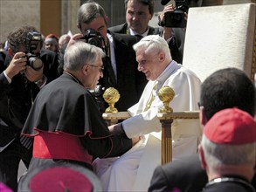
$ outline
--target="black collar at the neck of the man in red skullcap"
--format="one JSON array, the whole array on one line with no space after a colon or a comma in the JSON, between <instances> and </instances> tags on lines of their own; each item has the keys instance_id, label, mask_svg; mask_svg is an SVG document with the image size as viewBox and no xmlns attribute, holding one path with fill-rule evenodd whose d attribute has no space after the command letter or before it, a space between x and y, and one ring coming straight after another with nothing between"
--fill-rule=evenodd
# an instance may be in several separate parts
<instances>
[{"instance_id":1,"label":"black collar at the neck of the man in red skullcap","mask_svg":"<svg viewBox=\"0 0 256 192\"><path fill-rule=\"evenodd\" d=\"M212 185L222 183L222 182L232 182L232 183L238 183L239 185L244 186L248 191L250 192L256 192L255 189L253 188L253 185L248 182L245 178L240 177L240 176L226 176L226 177L220 177L211 180L211 182L208 182L205 185L205 188L211 187Z\"/></svg>"}]
</instances>

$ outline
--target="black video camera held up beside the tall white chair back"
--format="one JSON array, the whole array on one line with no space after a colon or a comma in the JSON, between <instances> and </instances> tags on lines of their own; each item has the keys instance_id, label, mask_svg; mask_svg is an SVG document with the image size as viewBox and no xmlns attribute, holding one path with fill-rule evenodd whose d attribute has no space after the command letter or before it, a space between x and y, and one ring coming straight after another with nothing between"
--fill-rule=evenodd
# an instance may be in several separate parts
<instances>
[{"instance_id":1,"label":"black video camera held up beside the tall white chair back","mask_svg":"<svg viewBox=\"0 0 256 192\"><path fill-rule=\"evenodd\" d=\"M184 28L187 21L184 12L189 10L189 0L176 0L176 9L164 13L164 26L171 28Z\"/></svg>"}]
</instances>

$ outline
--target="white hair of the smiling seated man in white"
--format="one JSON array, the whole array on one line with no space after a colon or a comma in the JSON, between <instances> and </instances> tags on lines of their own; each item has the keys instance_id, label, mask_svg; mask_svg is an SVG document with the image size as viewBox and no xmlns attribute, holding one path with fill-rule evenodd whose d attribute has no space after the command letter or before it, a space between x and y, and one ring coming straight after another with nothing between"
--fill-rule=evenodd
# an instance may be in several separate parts
<instances>
[{"instance_id":1,"label":"white hair of the smiling seated man in white","mask_svg":"<svg viewBox=\"0 0 256 192\"><path fill-rule=\"evenodd\" d=\"M170 55L170 49L166 40L159 35L149 35L142 38L138 43L133 46L137 51L140 48L144 48L145 52L164 51L166 58L172 59Z\"/></svg>"}]
</instances>

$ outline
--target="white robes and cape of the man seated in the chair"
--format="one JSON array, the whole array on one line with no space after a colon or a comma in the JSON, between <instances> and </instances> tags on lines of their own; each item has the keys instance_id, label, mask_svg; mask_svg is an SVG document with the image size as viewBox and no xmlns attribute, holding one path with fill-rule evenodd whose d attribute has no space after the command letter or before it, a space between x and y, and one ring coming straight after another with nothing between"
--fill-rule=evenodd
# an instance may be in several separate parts
<instances>
[{"instance_id":1,"label":"white robes and cape of the man seated in the chair","mask_svg":"<svg viewBox=\"0 0 256 192\"><path fill-rule=\"evenodd\" d=\"M195 73L172 61L156 81L155 95L162 86L170 86L175 91L170 103L174 111L198 109L201 81ZM161 164L162 126L157 113L163 102L156 96L150 109L143 112L155 83L149 81L139 102L128 109L132 117L122 122L129 138L143 135L142 141L120 157L93 161L104 191L147 191L154 169ZM198 120L174 120L172 135L174 159L197 153L201 137Z\"/></svg>"}]
</instances>

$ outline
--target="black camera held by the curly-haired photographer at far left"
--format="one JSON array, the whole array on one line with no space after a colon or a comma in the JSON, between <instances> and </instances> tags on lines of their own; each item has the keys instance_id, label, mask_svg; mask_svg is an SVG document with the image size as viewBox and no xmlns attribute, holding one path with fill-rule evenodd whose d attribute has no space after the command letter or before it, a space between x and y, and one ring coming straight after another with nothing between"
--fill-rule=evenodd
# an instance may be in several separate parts
<instances>
[{"instance_id":1,"label":"black camera held by the curly-haired photographer at far left","mask_svg":"<svg viewBox=\"0 0 256 192\"><path fill-rule=\"evenodd\" d=\"M27 58L27 65L30 65L36 71L40 70L44 66L44 63L42 59L32 51L37 50L38 45L41 45L41 43L42 39L40 33L36 31L30 31L27 33L25 40L27 52L25 57Z\"/></svg>"}]
</instances>

